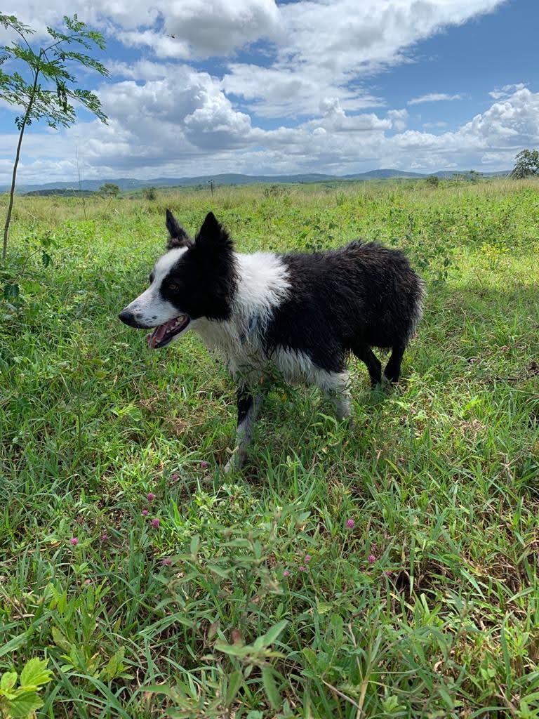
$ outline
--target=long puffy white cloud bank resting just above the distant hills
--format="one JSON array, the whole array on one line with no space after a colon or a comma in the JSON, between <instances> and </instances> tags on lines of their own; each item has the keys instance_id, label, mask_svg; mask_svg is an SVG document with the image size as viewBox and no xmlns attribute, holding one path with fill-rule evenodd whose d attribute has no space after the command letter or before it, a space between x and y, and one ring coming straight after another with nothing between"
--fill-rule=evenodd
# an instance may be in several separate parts
<instances>
[{"instance_id":1,"label":"long puffy white cloud bank resting just above the distant hills","mask_svg":"<svg viewBox=\"0 0 539 719\"><path fill-rule=\"evenodd\" d=\"M28 135L21 182L45 176L75 180L75 147L85 177L151 178L219 172L346 174L373 167L499 170L509 168L522 147L539 145L539 92L528 88L494 102L455 132L441 134L403 130L405 110L346 114L334 99L323 101L318 119L262 129L234 110L216 78L187 67L139 86L134 81L106 86L102 97L111 114L109 126L81 123L67 132ZM0 136L0 152L11 155L13 147L14 134ZM8 180L8 167L0 165L2 183Z\"/></svg>"}]
</instances>

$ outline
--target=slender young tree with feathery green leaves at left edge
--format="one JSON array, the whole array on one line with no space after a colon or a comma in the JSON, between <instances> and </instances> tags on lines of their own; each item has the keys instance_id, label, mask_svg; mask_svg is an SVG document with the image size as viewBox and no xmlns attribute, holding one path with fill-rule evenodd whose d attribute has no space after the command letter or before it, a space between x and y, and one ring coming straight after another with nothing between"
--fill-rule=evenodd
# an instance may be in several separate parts
<instances>
[{"instance_id":1,"label":"slender young tree with feathery green leaves at left edge","mask_svg":"<svg viewBox=\"0 0 539 719\"><path fill-rule=\"evenodd\" d=\"M16 15L0 13L0 24L6 30L19 36L12 40L11 45L0 45L0 59L3 64L17 63L22 65L20 72L15 70L11 75L0 69L0 98L9 105L22 108L22 114L15 118L19 130L17 150L11 175L11 191L4 224L4 244L2 259L7 255L7 239L11 210L13 209L17 168L21 156L22 137L24 130L32 122L45 119L49 127L70 127L76 120L75 108L72 103L79 103L96 115L101 122L107 122L107 116L101 109L98 96L89 90L75 88L76 79L68 71L68 65L83 65L96 70L100 75L108 76L106 69L98 60L86 51L105 50L105 40L100 32L86 29L76 15L72 18L64 16L67 32L60 32L47 27L50 44L32 47L31 40L34 30L22 22ZM75 46L73 50L71 46ZM28 80L24 79L23 74Z\"/></svg>"}]
</instances>

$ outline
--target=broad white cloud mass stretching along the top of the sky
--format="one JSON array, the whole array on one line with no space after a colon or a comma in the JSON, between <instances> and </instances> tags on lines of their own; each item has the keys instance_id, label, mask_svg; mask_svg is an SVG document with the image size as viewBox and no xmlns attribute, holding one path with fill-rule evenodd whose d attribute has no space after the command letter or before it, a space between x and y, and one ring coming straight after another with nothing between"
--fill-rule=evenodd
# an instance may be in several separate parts
<instances>
[{"instance_id":1,"label":"broad white cloud mass stretching along the top of the sky","mask_svg":"<svg viewBox=\"0 0 539 719\"><path fill-rule=\"evenodd\" d=\"M13 1L13 0L11 0ZM384 106L361 83L372 73L410 62L415 43L506 0L19 0L21 19L43 29L78 12L156 58L221 56L257 40L271 43L263 63L231 62L226 93L267 117L307 117L321 97L345 111Z\"/></svg>"}]
</instances>

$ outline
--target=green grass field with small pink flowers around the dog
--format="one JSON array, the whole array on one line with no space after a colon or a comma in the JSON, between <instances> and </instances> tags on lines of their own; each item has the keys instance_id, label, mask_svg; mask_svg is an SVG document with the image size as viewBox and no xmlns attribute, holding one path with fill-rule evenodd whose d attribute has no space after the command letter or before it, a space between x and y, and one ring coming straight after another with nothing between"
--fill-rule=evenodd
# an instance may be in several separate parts
<instances>
[{"instance_id":1,"label":"green grass field with small pink flowers around the dog","mask_svg":"<svg viewBox=\"0 0 539 719\"><path fill-rule=\"evenodd\" d=\"M165 206L191 231L213 209L242 251L405 249L428 299L400 385L352 363L354 430L277 386L225 480L223 365L116 317ZM538 718L538 253L532 182L18 198L0 674L48 659L51 719Z\"/></svg>"}]
</instances>

